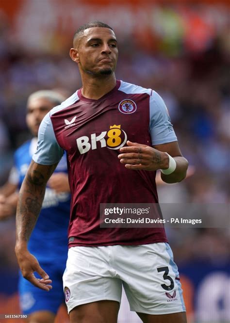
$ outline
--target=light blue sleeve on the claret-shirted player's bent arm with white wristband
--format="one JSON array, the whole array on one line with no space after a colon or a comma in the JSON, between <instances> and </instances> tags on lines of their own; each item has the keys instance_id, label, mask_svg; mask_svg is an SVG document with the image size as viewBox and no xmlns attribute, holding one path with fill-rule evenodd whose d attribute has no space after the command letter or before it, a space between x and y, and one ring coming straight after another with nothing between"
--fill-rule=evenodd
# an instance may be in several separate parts
<instances>
[{"instance_id":1,"label":"light blue sleeve on the claret-shirted player's bent arm with white wristband","mask_svg":"<svg viewBox=\"0 0 230 323\"><path fill-rule=\"evenodd\" d=\"M155 91L152 91L150 96L149 113L149 133L152 145L177 141L164 100Z\"/></svg>"}]
</instances>

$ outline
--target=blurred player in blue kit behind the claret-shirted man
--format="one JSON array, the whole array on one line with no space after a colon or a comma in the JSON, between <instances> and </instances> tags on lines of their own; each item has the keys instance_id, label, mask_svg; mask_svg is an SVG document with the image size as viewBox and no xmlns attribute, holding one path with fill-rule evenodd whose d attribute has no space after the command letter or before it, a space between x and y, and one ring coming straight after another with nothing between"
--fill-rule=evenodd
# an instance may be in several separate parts
<instances>
[{"instance_id":1,"label":"blurred player in blue kit behind the claret-shirted man","mask_svg":"<svg viewBox=\"0 0 230 323\"><path fill-rule=\"evenodd\" d=\"M0 188L0 219L14 215L20 188L37 147L37 134L43 117L64 97L59 93L42 90L28 98L26 121L33 139L15 152L14 166L8 182ZM42 267L52 273L53 288L47 293L19 277L19 298L23 314L30 323L53 323L58 308L65 302L62 275L66 268L67 228L70 212L70 193L66 155L49 179L39 219L31 235L29 250Z\"/></svg>"}]
</instances>

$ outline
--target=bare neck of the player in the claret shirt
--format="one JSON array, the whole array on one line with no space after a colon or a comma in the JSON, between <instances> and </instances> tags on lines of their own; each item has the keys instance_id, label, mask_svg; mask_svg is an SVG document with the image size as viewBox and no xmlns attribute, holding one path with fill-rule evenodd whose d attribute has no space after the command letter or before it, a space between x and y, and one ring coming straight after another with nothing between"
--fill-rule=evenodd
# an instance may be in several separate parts
<instances>
[{"instance_id":1,"label":"bare neck of the player in the claret shirt","mask_svg":"<svg viewBox=\"0 0 230 323\"><path fill-rule=\"evenodd\" d=\"M82 78L82 96L98 100L116 86L115 74L101 78Z\"/></svg>"}]
</instances>

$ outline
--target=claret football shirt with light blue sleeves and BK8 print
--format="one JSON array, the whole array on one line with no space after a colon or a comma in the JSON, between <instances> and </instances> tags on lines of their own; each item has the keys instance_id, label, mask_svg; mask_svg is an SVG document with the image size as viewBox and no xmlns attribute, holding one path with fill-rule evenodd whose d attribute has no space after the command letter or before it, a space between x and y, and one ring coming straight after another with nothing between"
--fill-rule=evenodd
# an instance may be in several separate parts
<instances>
[{"instance_id":1,"label":"claret football shirt with light blue sleeves and BK8 print","mask_svg":"<svg viewBox=\"0 0 230 323\"><path fill-rule=\"evenodd\" d=\"M33 160L54 164L67 154L69 247L166 242L164 228L100 228L100 203L158 203L155 172L129 170L117 158L127 140L177 141L163 99L124 81L98 100L81 89L43 119Z\"/></svg>"}]
</instances>

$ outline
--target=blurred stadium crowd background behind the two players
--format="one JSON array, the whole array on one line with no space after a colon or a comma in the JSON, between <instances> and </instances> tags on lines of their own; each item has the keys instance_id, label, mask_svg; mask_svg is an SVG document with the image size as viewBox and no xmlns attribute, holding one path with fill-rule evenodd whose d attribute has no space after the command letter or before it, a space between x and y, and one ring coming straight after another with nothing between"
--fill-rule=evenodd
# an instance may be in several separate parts
<instances>
[{"instance_id":1,"label":"blurred stadium crowd background behind the two players","mask_svg":"<svg viewBox=\"0 0 230 323\"><path fill-rule=\"evenodd\" d=\"M57 89L68 97L81 87L68 50L74 30L99 19L117 34L117 79L152 88L164 98L181 151L195 167L184 182L159 187L160 202L220 207L230 202L230 6L228 1L162 2L66 0L64 6L59 0L0 0L0 185L14 150L29 138L27 97L39 89ZM167 231L188 286L190 322L229 322L229 229ZM0 223L0 240L0 313L5 313L16 306L14 219ZM207 278L209 273L215 276ZM215 296L197 296L204 279L211 279ZM210 297L216 303L211 300L209 307Z\"/></svg>"}]
</instances>

